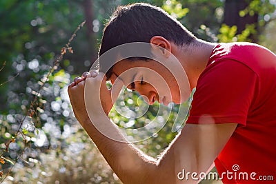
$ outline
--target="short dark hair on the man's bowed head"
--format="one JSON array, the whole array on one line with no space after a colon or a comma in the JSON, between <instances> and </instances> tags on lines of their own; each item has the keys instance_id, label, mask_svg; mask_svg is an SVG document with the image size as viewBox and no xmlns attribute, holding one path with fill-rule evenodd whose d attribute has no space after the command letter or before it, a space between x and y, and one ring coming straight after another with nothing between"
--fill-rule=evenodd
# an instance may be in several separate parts
<instances>
[{"instance_id":1,"label":"short dark hair on the man's bowed head","mask_svg":"<svg viewBox=\"0 0 276 184\"><path fill-rule=\"evenodd\" d=\"M103 30L99 57L104 52L124 43L149 43L154 36L164 37L176 45L188 45L195 39L195 36L179 21L161 8L148 3L134 3L128 6L119 6L110 17L110 21ZM143 57L130 58L131 61L140 59L147 60ZM107 64L99 59L99 70L106 72L109 79L112 68Z\"/></svg>"}]
</instances>

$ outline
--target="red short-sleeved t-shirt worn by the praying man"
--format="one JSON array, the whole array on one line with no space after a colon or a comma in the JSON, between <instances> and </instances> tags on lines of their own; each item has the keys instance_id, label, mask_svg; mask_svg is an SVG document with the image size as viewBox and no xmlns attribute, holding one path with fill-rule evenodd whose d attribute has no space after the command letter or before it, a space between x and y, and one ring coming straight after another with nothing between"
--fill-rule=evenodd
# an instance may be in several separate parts
<instances>
[{"instance_id":1,"label":"red short-sleeved t-shirt worn by the praying man","mask_svg":"<svg viewBox=\"0 0 276 184\"><path fill-rule=\"evenodd\" d=\"M215 159L222 181L276 183L276 55L253 43L218 44L186 123L238 123Z\"/></svg>"}]
</instances>

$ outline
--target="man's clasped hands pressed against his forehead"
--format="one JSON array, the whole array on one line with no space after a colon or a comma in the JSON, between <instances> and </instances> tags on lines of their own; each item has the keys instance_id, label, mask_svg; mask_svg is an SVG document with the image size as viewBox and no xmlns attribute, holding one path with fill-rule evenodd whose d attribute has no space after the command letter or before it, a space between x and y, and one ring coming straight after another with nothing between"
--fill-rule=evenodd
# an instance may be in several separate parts
<instances>
[{"instance_id":1,"label":"man's clasped hands pressed against his forehead","mask_svg":"<svg viewBox=\"0 0 276 184\"><path fill-rule=\"evenodd\" d=\"M88 110L92 111L92 114L104 112L108 115L113 102L116 101L121 90L121 85L118 87L113 89L106 88L106 76L96 70L83 72L81 77L77 76L68 86L68 94L72 109L79 123L83 125L89 120Z\"/></svg>"}]
</instances>

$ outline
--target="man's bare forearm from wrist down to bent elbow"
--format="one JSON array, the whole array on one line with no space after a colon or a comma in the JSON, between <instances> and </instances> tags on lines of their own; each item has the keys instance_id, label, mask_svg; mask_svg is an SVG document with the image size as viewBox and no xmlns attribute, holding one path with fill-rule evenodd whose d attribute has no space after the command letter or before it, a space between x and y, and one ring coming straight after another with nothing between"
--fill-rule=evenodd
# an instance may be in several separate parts
<instances>
[{"instance_id":1,"label":"man's bare forearm from wrist down to bent elbow","mask_svg":"<svg viewBox=\"0 0 276 184\"><path fill-rule=\"evenodd\" d=\"M128 143L113 123L101 121L101 127L96 126L97 128L89 120L81 124L121 181L124 183L154 182L150 176L157 174L157 161ZM102 134L99 130L106 130L106 132Z\"/></svg>"}]
</instances>

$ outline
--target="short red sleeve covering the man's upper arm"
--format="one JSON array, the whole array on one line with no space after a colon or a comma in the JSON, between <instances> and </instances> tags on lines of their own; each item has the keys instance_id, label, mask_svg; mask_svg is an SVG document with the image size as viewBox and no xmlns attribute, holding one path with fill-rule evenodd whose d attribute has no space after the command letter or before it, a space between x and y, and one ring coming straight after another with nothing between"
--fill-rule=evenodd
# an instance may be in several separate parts
<instances>
[{"instance_id":1,"label":"short red sleeve covering the man's upper arm","mask_svg":"<svg viewBox=\"0 0 276 184\"><path fill-rule=\"evenodd\" d=\"M186 123L246 125L257 95L257 74L239 61L224 59L208 65L199 76Z\"/></svg>"}]
</instances>

